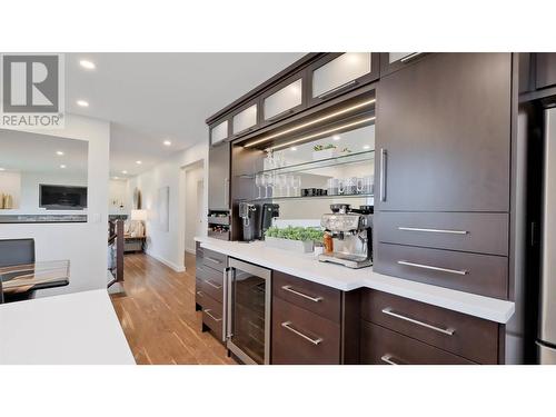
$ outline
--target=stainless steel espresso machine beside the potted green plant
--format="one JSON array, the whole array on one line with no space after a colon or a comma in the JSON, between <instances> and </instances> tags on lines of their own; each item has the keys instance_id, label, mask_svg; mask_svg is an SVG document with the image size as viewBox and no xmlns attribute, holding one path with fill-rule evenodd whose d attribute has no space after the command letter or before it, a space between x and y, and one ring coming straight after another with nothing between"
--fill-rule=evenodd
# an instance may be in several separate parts
<instances>
[{"instance_id":1,"label":"stainless steel espresso machine beside the potted green plant","mask_svg":"<svg viewBox=\"0 0 556 417\"><path fill-rule=\"evenodd\" d=\"M322 215L320 226L332 238L334 250L318 260L365 268L373 265L373 206L353 209L350 205L331 205L331 214Z\"/></svg>"}]
</instances>

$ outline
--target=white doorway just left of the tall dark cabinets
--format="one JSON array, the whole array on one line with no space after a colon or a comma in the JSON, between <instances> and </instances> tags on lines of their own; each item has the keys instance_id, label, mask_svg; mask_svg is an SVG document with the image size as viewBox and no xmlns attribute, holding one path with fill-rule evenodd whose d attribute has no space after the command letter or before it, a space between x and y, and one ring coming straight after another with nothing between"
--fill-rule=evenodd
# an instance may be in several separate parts
<instances>
[{"instance_id":1,"label":"white doorway just left of the tall dark cabinets","mask_svg":"<svg viewBox=\"0 0 556 417\"><path fill-rule=\"evenodd\" d=\"M205 235L205 165L193 162L186 171L186 252L195 254L195 237Z\"/></svg>"}]
</instances>

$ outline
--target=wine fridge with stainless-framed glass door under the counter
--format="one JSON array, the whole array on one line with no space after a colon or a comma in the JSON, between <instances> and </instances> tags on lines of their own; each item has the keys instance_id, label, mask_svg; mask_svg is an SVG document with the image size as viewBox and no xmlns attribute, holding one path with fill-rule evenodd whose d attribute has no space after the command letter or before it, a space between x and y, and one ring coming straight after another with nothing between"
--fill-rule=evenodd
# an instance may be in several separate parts
<instances>
[{"instance_id":1,"label":"wine fridge with stainless-framed glass door under the counter","mask_svg":"<svg viewBox=\"0 0 556 417\"><path fill-rule=\"evenodd\" d=\"M245 364L270 364L271 271L230 258L226 345Z\"/></svg>"}]
</instances>

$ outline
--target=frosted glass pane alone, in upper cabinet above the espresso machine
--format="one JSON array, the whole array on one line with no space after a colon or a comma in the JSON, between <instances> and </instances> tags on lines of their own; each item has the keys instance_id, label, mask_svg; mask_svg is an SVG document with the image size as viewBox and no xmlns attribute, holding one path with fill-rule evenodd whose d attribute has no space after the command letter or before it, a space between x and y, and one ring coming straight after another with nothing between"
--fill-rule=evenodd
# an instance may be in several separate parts
<instances>
[{"instance_id":1,"label":"frosted glass pane alone, in upper cabinet above the espresso machine","mask_svg":"<svg viewBox=\"0 0 556 417\"><path fill-rule=\"evenodd\" d=\"M312 97L332 92L371 71L369 52L347 52L312 73Z\"/></svg>"}]
</instances>

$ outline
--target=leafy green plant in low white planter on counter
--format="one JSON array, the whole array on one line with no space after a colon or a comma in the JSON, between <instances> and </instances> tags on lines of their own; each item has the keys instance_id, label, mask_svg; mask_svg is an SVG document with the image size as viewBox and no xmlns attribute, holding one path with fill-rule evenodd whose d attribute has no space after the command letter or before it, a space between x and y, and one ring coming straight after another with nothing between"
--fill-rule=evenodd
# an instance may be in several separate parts
<instances>
[{"instance_id":1,"label":"leafy green plant in low white planter on counter","mask_svg":"<svg viewBox=\"0 0 556 417\"><path fill-rule=\"evenodd\" d=\"M265 232L265 242L271 248L307 254L312 252L315 241L322 241L322 230L312 227L274 226Z\"/></svg>"}]
</instances>

